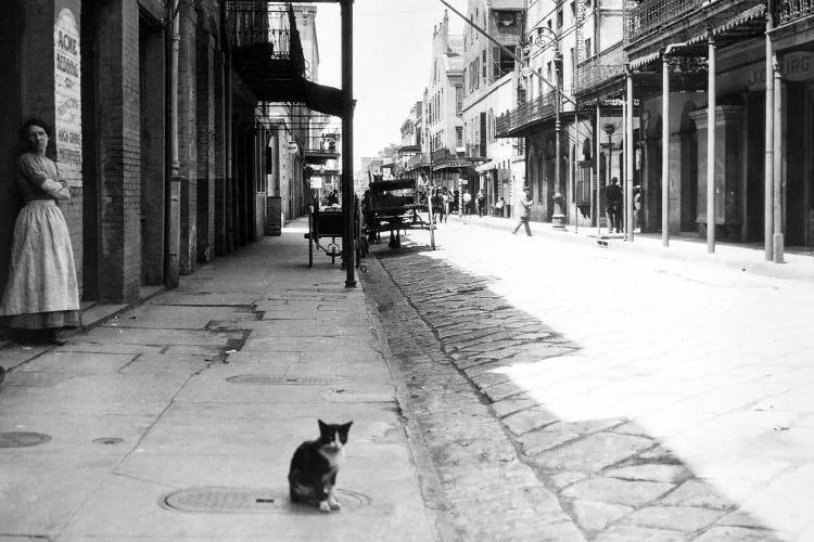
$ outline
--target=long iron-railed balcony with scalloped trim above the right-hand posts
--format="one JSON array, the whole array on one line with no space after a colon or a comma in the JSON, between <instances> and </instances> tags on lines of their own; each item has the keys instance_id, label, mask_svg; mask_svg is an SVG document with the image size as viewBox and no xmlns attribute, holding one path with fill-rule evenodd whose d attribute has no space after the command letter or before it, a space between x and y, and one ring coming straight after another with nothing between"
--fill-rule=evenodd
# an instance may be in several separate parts
<instances>
[{"instance_id":1,"label":"long iron-railed balcony with scalloped trim above the right-hand posts","mask_svg":"<svg viewBox=\"0 0 814 542\"><path fill-rule=\"evenodd\" d=\"M624 49L634 67L659 57L667 43L683 42L685 54L704 56L708 33L718 46L760 37L765 31L765 12L763 0L627 1Z\"/></svg>"}]
</instances>

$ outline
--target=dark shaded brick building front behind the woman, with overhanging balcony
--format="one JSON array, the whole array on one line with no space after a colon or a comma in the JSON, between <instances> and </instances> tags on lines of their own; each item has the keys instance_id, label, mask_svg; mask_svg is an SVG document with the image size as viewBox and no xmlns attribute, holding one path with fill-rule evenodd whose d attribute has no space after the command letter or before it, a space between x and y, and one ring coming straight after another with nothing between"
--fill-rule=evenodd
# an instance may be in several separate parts
<instances>
[{"instance_id":1,"label":"dark shaded brick building front behind the woman, with overhanging balcony","mask_svg":"<svg viewBox=\"0 0 814 542\"><path fill-rule=\"evenodd\" d=\"M86 302L138 301L258 240L280 163L263 104L341 109L338 91L305 79L284 4L13 0L0 54L14 60L0 81L0 260L21 207L14 127L38 117L72 189L61 207Z\"/></svg>"}]
</instances>

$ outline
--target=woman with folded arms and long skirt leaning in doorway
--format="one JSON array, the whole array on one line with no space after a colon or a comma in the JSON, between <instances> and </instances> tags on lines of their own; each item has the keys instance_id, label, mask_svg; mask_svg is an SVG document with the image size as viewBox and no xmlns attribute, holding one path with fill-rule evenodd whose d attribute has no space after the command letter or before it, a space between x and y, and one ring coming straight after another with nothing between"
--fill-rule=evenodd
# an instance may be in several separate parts
<instances>
[{"instance_id":1,"label":"woman with folded arms and long skirt leaning in doorway","mask_svg":"<svg viewBox=\"0 0 814 542\"><path fill-rule=\"evenodd\" d=\"M38 119L20 129L26 152L17 159L16 189L25 206L14 223L9 280L0 321L22 340L62 344L59 331L79 325L74 250L58 202L71 191L46 156L50 126Z\"/></svg>"}]
</instances>

